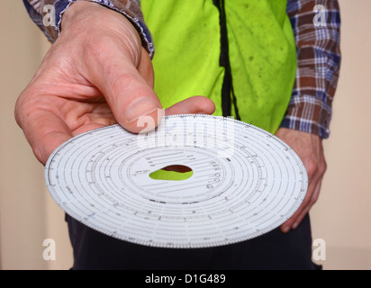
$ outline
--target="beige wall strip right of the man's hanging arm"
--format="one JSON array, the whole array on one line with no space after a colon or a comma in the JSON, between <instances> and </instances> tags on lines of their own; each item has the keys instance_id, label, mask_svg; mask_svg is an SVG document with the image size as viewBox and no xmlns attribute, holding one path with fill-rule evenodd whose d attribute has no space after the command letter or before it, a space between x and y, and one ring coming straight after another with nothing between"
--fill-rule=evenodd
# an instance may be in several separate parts
<instances>
[{"instance_id":1,"label":"beige wall strip right of the man's hanging arm","mask_svg":"<svg viewBox=\"0 0 371 288\"><path fill-rule=\"evenodd\" d=\"M325 152L328 172L312 210L328 268L371 268L371 1L340 0L342 67Z\"/></svg>"}]
</instances>

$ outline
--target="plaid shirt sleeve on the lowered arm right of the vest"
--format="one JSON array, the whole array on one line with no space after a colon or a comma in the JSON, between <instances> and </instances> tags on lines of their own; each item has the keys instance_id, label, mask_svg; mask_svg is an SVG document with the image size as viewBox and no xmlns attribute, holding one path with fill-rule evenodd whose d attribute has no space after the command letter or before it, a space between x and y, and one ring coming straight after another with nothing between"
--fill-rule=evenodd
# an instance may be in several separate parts
<instances>
[{"instance_id":1,"label":"plaid shirt sleeve on the lowered arm right of the vest","mask_svg":"<svg viewBox=\"0 0 371 288\"><path fill-rule=\"evenodd\" d=\"M337 0L288 0L294 30L297 71L281 127L326 139L339 78L340 14Z\"/></svg>"}]
</instances>

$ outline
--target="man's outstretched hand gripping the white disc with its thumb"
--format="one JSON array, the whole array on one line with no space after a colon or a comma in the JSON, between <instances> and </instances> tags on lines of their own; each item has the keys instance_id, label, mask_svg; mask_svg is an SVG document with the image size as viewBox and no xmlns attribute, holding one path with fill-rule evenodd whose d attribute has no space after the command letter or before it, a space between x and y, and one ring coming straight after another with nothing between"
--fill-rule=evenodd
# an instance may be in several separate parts
<instances>
[{"instance_id":1,"label":"man's outstretched hand gripping the white disc with its thumb","mask_svg":"<svg viewBox=\"0 0 371 288\"><path fill-rule=\"evenodd\" d=\"M63 14L61 33L15 105L15 119L35 156L45 164L71 137L120 123L143 130L140 116L157 125L161 103L153 90L153 67L140 36L122 14L80 1ZM167 114L213 113L213 102L195 96Z\"/></svg>"}]
</instances>

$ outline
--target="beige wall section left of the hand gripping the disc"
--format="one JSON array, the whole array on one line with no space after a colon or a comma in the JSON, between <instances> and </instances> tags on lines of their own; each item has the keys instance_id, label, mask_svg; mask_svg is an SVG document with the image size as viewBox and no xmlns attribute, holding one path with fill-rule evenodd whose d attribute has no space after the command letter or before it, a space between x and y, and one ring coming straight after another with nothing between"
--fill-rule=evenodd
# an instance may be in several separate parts
<instances>
[{"instance_id":1,"label":"beige wall section left of the hand gripping the disc","mask_svg":"<svg viewBox=\"0 0 371 288\"><path fill-rule=\"evenodd\" d=\"M52 202L43 166L14 121L14 103L50 44L23 2L0 2L0 268L66 269L71 249L63 212ZM54 238L57 260L44 261L42 242Z\"/></svg>"}]
</instances>

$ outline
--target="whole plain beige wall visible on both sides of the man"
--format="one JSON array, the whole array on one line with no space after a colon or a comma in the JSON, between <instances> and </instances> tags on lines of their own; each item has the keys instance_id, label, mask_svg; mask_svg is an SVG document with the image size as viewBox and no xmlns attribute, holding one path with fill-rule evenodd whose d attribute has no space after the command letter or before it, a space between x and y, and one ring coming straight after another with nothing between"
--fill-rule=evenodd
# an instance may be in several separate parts
<instances>
[{"instance_id":1,"label":"whole plain beige wall visible on both sides of the man","mask_svg":"<svg viewBox=\"0 0 371 288\"><path fill-rule=\"evenodd\" d=\"M312 209L313 238L326 243L325 269L371 268L371 1L340 0L343 62L330 139L328 172ZM51 200L43 167L14 122L14 102L49 44L22 1L0 2L0 268L68 269L71 249L63 212ZM56 241L56 261L42 241Z\"/></svg>"}]
</instances>

